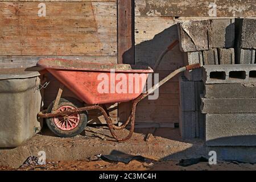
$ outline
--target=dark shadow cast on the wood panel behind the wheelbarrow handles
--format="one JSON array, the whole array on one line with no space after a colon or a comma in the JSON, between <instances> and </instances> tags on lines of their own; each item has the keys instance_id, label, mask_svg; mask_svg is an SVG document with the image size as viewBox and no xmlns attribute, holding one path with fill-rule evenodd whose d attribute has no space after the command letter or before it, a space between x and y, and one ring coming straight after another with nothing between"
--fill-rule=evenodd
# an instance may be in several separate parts
<instances>
[{"instance_id":1,"label":"dark shadow cast on the wood panel behind the wheelbarrow handles","mask_svg":"<svg viewBox=\"0 0 256 182\"><path fill-rule=\"evenodd\" d=\"M142 30L143 31L143 30ZM135 31L136 42L154 34L150 31ZM142 41L135 45L135 64L154 67L159 55L172 42L179 39L177 25L174 24L159 34L154 35L151 40ZM130 51L130 50L129 50ZM123 58L129 55L129 51L124 53ZM169 73L183 66L183 53L179 46L164 56L159 68L155 73L159 73L159 80L166 77ZM144 123L178 123L179 122L179 84L178 76L172 78L159 89L158 100L147 100L145 98L137 106L136 121ZM129 113L129 112L127 112ZM123 114L123 113L121 113ZM127 119L128 115L126 115ZM125 119L122 119L125 120ZM121 122L122 122L121 120ZM171 129L170 129L171 130ZM177 134L179 135L179 134ZM159 134L159 137L164 137ZM167 137L168 138L168 137Z\"/></svg>"}]
</instances>

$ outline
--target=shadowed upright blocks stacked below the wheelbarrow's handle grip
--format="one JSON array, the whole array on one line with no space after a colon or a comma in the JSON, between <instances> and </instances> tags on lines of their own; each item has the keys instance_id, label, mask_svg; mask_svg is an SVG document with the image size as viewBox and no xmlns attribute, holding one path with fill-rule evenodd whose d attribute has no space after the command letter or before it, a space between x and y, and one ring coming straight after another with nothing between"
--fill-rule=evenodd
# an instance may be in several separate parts
<instances>
[{"instance_id":1,"label":"shadowed upright blocks stacked below the wheelbarrow's handle grip","mask_svg":"<svg viewBox=\"0 0 256 182\"><path fill-rule=\"evenodd\" d=\"M203 92L202 81L189 81L184 76L179 79L180 106L179 128L183 139L204 139L204 115L200 112L200 93Z\"/></svg>"}]
</instances>

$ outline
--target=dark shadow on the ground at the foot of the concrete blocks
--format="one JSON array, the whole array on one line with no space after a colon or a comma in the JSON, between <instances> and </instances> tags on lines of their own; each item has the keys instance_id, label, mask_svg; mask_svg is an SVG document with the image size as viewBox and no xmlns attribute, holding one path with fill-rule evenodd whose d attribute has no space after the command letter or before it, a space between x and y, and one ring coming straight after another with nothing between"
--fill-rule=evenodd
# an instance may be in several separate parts
<instances>
[{"instance_id":1,"label":"dark shadow on the ground at the foot of the concrete blocks","mask_svg":"<svg viewBox=\"0 0 256 182\"><path fill-rule=\"evenodd\" d=\"M255 142L253 142L255 141L255 138L256 135L241 135L209 140L208 144L213 146L206 146L204 143L194 143L192 147L176 152L175 154L168 155L161 160L192 159L200 158L201 156L208 159L211 156L209 155L209 152L215 151L217 160L237 160L245 163L256 163L256 147ZM247 143L248 146L241 146L242 141ZM220 143L224 146L217 146L220 145ZM229 143L236 144L236 146L227 146Z\"/></svg>"}]
</instances>

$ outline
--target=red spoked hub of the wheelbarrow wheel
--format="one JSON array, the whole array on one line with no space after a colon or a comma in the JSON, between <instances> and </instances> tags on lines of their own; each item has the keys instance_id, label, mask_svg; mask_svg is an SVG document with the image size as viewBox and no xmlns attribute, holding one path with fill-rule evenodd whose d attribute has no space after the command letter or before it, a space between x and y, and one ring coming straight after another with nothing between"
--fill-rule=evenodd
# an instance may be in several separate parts
<instances>
[{"instance_id":1,"label":"red spoked hub of the wheelbarrow wheel","mask_svg":"<svg viewBox=\"0 0 256 182\"><path fill-rule=\"evenodd\" d=\"M65 111L65 110L72 110L76 109L73 106L65 105L61 106L57 109L57 111ZM58 127L58 129L63 131L71 131L79 125L80 122L80 114L73 113L71 115L65 115L64 117L58 116L53 118L53 122Z\"/></svg>"}]
</instances>

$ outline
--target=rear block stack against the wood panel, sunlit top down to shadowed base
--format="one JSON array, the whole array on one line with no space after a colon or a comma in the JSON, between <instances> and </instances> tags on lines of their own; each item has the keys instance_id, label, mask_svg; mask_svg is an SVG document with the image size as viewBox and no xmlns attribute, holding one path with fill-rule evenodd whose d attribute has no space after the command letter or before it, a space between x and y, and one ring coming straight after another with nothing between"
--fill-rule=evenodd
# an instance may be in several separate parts
<instances>
[{"instance_id":1,"label":"rear block stack against the wood panel, sunlit top down to shadowed base","mask_svg":"<svg viewBox=\"0 0 256 182\"><path fill-rule=\"evenodd\" d=\"M193 20L177 26L184 65L234 64L234 19ZM202 80L202 69L185 71L179 80L179 123L183 139L205 138L205 116L200 111Z\"/></svg>"}]
</instances>

